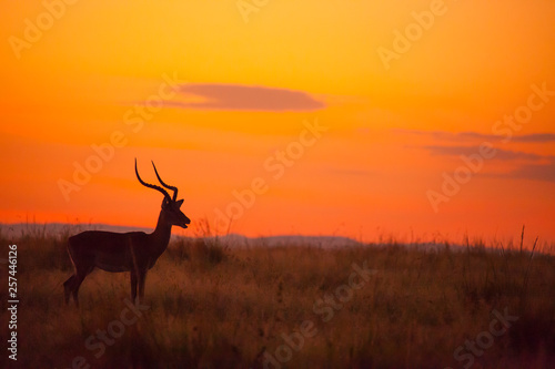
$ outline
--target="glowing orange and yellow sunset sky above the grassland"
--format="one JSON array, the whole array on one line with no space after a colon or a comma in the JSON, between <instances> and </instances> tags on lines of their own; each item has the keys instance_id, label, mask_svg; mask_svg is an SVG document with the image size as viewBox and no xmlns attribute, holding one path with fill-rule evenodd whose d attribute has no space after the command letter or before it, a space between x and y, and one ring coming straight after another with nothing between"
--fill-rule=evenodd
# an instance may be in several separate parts
<instances>
[{"instance_id":1,"label":"glowing orange and yellow sunset sky above the grassland","mask_svg":"<svg viewBox=\"0 0 555 369\"><path fill-rule=\"evenodd\" d=\"M555 240L553 1L72 2L2 3L1 223L153 227L137 157L183 235Z\"/></svg>"}]
</instances>

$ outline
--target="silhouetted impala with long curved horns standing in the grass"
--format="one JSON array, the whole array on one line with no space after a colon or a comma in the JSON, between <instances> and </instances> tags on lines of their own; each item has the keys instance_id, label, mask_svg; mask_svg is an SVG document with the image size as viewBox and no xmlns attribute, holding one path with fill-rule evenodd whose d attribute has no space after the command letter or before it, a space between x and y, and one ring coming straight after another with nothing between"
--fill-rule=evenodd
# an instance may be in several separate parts
<instances>
[{"instance_id":1,"label":"silhouetted impala with long curved horns standing in the grass","mask_svg":"<svg viewBox=\"0 0 555 369\"><path fill-rule=\"evenodd\" d=\"M154 166L154 163L152 165ZM153 233L87 230L69 238L68 253L75 271L63 284L65 304L73 296L75 305L79 306L79 287L94 268L111 273L129 271L132 300L135 301L137 299L138 287L139 298L143 297L147 270L154 266L160 255L167 249L172 226L186 228L191 223L180 209L183 199L176 201L178 188L167 185L160 178L155 166L154 173L162 186L173 191L172 197L164 188L148 184L141 180L135 160L135 174L139 182L143 186L157 189L164 195L157 228Z\"/></svg>"}]
</instances>

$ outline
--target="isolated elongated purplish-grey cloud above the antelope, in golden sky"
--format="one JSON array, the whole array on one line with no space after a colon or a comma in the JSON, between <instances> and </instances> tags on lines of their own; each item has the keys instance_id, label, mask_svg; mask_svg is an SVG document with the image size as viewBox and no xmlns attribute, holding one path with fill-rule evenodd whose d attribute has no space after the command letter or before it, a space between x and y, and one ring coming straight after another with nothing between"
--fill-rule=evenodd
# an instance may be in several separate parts
<instances>
[{"instance_id":1,"label":"isolated elongated purplish-grey cloud above the antelope, in golden sky","mask_svg":"<svg viewBox=\"0 0 555 369\"><path fill-rule=\"evenodd\" d=\"M168 105L220 111L315 111L325 104L306 92L240 84L184 84L180 88L184 101Z\"/></svg>"}]
</instances>

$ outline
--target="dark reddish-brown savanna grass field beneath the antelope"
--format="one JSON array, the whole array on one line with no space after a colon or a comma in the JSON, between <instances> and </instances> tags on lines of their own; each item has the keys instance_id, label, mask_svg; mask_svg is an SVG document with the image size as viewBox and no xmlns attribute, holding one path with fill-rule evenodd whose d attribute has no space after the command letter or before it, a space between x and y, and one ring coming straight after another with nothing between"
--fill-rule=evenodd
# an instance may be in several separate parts
<instances>
[{"instance_id":1,"label":"dark reddish-brown savanna grass field beneath the antelope","mask_svg":"<svg viewBox=\"0 0 555 369\"><path fill-rule=\"evenodd\" d=\"M129 274L105 271L84 280L79 308L64 305L67 236L0 235L1 257L18 245L20 299L18 361L3 349L0 367L555 367L555 259L537 248L531 257L478 242L423 250L178 239L133 310Z\"/></svg>"}]
</instances>

